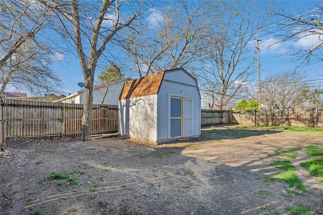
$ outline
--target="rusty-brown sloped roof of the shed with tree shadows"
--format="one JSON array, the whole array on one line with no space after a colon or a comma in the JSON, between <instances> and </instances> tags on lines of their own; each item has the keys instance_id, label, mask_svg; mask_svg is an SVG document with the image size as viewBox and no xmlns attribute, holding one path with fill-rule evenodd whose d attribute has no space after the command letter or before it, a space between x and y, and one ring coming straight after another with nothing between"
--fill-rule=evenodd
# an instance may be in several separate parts
<instances>
[{"instance_id":1,"label":"rusty-brown sloped roof of the shed with tree shadows","mask_svg":"<svg viewBox=\"0 0 323 215\"><path fill-rule=\"evenodd\" d=\"M158 72L128 81L124 84L119 99L157 94L163 77L164 72Z\"/></svg>"}]
</instances>

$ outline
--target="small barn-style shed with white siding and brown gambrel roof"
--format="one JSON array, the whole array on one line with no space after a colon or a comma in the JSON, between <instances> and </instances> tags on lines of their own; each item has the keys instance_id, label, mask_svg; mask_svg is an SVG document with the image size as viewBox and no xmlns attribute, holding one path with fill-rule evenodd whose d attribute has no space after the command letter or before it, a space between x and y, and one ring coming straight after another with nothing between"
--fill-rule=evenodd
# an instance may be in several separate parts
<instances>
[{"instance_id":1,"label":"small barn-style shed with white siding and brown gambrel roof","mask_svg":"<svg viewBox=\"0 0 323 215\"><path fill-rule=\"evenodd\" d=\"M196 79L184 69L126 82L118 109L124 137L157 145L200 136L201 96Z\"/></svg>"}]
</instances>

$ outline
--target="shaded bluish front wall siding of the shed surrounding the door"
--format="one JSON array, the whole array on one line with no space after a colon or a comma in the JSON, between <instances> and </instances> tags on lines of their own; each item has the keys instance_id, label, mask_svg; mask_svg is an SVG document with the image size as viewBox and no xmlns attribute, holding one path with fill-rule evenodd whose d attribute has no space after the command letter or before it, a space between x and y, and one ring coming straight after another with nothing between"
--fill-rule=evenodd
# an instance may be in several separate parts
<instances>
[{"instance_id":1,"label":"shaded bluish front wall siding of the shed surrounding the door","mask_svg":"<svg viewBox=\"0 0 323 215\"><path fill-rule=\"evenodd\" d=\"M178 97L185 97L185 98L192 98L192 136L200 135L201 131L201 100L200 95L198 92L198 88L196 86L196 82L192 79L189 75L185 72L177 72L177 77L181 77L180 83L168 82L166 80L174 80L179 82L178 79L171 79L174 78L174 72L165 73L164 80L161 82L159 91L158 91L158 116L157 116L157 123L158 123L158 134L157 139L160 140L167 140L170 137L169 134L169 102L170 96L178 96ZM194 85L194 86L191 86Z\"/></svg>"}]
</instances>

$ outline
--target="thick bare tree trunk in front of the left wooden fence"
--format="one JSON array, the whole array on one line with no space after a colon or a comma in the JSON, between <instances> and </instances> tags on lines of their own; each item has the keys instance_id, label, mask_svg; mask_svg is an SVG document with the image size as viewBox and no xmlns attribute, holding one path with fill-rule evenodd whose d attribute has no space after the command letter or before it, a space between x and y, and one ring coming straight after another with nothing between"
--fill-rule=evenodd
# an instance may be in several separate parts
<instances>
[{"instance_id":1,"label":"thick bare tree trunk in front of the left wooden fence","mask_svg":"<svg viewBox=\"0 0 323 215\"><path fill-rule=\"evenodd\" d=\"M90 70L87 71L90 74ZM94 74L94 72L92 73ZM84 103L82 118L82 141L91 140L92 134L92 103L94 75L84 78Z\"/></svg>"}]
</instances>

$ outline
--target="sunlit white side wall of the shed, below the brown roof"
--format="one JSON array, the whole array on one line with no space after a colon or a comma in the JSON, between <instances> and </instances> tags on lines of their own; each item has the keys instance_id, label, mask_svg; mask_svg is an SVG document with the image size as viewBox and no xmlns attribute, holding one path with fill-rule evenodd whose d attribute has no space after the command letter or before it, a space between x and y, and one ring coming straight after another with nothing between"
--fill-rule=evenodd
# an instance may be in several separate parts
<instances>
[{"instance_id":1,"label":"sunlit white side wall of the shed, below the brown roof","mask_svg":"<svg viewBox=\"0 0 323 215\"><path fill-rule=\"evenodd\" d=\"M157 141L157 95L120 100L119 116L121 135L139 141Z\"/></svg>"}]
</instances>

